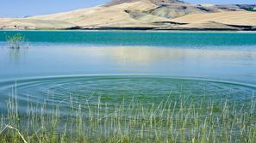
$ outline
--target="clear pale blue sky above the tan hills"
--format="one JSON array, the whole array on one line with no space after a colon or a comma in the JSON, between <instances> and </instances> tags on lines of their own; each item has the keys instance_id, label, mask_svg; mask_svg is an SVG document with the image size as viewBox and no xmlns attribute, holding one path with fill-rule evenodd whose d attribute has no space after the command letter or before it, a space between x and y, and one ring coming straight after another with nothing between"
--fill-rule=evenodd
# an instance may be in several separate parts
<instances>
[{"instance_id":1,"label":"clear pale blue sky above the tan hills","mask_svg":"<svg viewBox=\"0 0 256 143\"><path fill-rule=\"evenodd\" d=\"M1 0L0 17L23 17L53 14L61 11L91 7L110 0ZM188 3L250 3L255 0L185 0Z\"/></svg>"}]
</instances>

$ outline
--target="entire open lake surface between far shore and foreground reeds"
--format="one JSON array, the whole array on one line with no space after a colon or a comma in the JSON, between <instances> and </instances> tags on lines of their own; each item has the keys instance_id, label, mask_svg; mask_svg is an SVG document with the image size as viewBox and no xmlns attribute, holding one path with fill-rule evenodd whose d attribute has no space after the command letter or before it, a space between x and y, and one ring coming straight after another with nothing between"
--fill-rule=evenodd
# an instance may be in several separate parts
<instances>
[{"instance_id":1,"label":"entire open lake surface between far shore and foreground reeds","mask_svg":"<svg viewBox=\"0 0 256 143\"><path fill-rule=\"evenodd\" d=\"M22 33L27 49L10 50ZM179 92L247 101L256 86L256 33L0 31L0 109L15 85L26 102L70 94L153 101ZM175 94L176 93L176 94ZM91 102L93 104L93 102ZM21 104L21 109L22 106Z\"/></svg>"}]
</instances>

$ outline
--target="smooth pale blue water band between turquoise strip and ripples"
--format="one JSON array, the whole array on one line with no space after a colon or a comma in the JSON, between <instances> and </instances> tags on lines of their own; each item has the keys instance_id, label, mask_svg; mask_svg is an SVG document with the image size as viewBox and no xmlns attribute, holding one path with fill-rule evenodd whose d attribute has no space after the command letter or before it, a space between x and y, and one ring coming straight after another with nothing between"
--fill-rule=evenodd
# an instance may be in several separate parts
<instances>
[{"instance_id":1,"label":"smooth pale blue water band between turquoise strip and ripples","mask_svg":"<svg viewBox=\"0 0 256 143\"><path fill-rule=\"evenodd\" d=\"M29 49L10 51L2 47L0 78L153 74L255 83L256 48L243 48L34 45Z\"/></svg>"}]
</instances>

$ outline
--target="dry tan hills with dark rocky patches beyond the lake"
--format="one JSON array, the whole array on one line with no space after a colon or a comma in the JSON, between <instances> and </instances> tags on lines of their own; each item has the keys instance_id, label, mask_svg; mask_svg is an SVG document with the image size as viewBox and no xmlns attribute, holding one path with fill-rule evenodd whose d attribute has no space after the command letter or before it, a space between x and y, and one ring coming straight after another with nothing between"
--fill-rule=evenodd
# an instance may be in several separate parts
<instances>
[{"instance_id":1,"label":"dry tan hills with dark rocky patches beyond the lake","mask_svg":"<svg viewBox=\"0 0 256 143\"><path fill-rule=\"evenodd\" d=\"M53 15L0 18L0 28L255 30L255 17L256 12L237 5L192 5L179 0L114 0L89 9Z\"/></svg>"}]
</instances>

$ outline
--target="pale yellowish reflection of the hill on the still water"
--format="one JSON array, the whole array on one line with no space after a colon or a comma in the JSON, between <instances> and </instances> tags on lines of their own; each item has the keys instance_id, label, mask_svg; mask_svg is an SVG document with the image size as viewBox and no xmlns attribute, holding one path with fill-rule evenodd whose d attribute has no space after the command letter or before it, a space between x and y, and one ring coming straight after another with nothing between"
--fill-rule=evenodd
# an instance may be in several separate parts
<instances>
[{"instance_id":1,"label":"pale yellowish reflection of the hill on the still water","mask_svg":"<svg viewBox=\"0 0 256 143\"><path fill-rule=\"evenodd\" d=\"M119 63L147 64L158 63L163 61L178 61L186 58L248 58L249 61L255 62L255 51L217 51L217 50L198 50L198 49L170 49L170 48L153 48L153 47L118 47L101 49L99 52L106 53L107 57L113 58ZM251 58L251 60L250 60ZM235 61L234 61L235 62Z\"/></svg>"}]
</instances>

